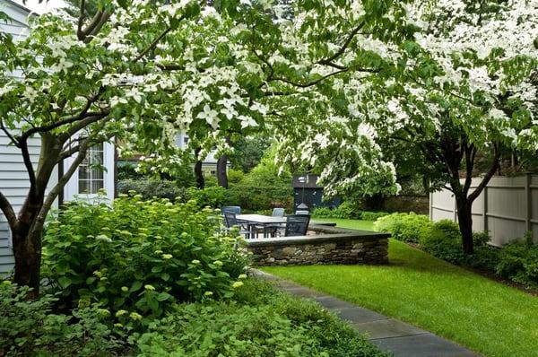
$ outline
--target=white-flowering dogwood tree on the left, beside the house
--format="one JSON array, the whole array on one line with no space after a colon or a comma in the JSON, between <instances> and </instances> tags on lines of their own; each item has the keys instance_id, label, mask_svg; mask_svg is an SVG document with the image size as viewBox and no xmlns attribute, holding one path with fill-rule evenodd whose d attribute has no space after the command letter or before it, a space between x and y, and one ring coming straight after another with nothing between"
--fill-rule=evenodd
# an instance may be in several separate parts
<instances>
[{"instance_id":1,"label":"white-flowering dogwood tree on the left, beside the house","mask_svg":"<svg viewBox=\"0 0 538 357\"><path fill-rule=\"evenodd\" d=\"M178 130L202 142L212 132L224 138L288 126L310 100L330 98L333 85L325 83L367 82L391 68L360 39L397 46L412 31L403 3L389 0L114 0L98 2L92 15L81 0L76 16L33 20L27 39L4 36L0 129L20 150L30 181L19 213L0 188L15 282L38 292L46 216L92 145L116 137L126 151L163 158L177 153ZM41 143L37 165L31 137ZM54 168L71 156L48 191Z\"/></svg>"}]
</instances>

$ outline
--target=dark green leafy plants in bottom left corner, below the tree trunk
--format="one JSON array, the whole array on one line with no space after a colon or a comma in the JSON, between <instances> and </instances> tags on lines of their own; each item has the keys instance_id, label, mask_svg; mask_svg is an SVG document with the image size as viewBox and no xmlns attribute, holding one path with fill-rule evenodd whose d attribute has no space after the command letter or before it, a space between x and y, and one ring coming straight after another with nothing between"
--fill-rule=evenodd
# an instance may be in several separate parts
<instances>
[{"instance_id":1,"label":"dark green leafy plants in bottom left corner, below the tree trunk","mask_svg":"<svg viewBox=\"0 0 538 357\"><path fill-rule=\"evenodd\" d=\"M71 315L51 312L56 299L28 300L27 287L0 283L0 355L116 355L122 344L101 322L109 312L93 306Z\"/></svg>"}]
</instances>

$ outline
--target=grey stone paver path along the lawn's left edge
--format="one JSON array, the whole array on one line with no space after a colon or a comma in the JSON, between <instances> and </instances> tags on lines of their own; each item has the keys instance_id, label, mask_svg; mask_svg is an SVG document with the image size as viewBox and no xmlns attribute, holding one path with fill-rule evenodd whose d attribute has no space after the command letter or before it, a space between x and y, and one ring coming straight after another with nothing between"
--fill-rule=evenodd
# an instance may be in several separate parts
<instances>
[{"instance_id":1,"label":"grey stone paver path along the lawn's left edge","mask_svg":"<svg viewBox=\"0 0 538 357\"><path fill-rule=\"evenodd\" d=\"M479 357L464 347L438 335L406 324L395 318L388 318L375 311L360 308L347 301L308 289L297 283L282 280L259 270L252 273L263 279L272 280L283 291L317 301L325 309L347 320L361 334L366 334L372 344L394 353L395 357Z\"/></svg>"}]
</instances>

